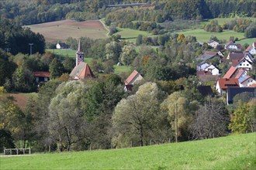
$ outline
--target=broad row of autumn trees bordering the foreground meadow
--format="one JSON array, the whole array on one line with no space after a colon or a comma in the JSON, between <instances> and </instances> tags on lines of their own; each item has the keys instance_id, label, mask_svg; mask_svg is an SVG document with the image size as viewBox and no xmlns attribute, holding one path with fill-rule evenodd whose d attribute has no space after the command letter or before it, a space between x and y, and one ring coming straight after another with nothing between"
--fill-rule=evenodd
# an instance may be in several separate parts
<instances>
[{"instance_id":1,"label":"broad row of autumn trees bordering the foreground meadow","mask_svg":"<svg viewBox=\"0 0 256 170\"><path fill-rule=\"evenodd\" d=\"M191 76L145 81L124 93L113 74L85 81L57 78L40 87L24 110L0 87L1 149L17 141L33 151L127 148L255 131L254 98L239 94L227 110L222 98L202 97L198 85Z\"/></svg>"}]
</instances>

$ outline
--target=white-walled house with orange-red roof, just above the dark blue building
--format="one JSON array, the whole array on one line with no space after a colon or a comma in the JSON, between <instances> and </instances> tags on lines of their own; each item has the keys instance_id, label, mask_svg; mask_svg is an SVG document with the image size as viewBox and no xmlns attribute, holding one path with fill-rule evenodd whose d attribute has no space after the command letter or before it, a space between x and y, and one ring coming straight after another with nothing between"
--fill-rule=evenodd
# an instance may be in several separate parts
<instances>
[{"instance_id":1,"label":"white-walled house with orange-red roof, just above the dark blue building","mask_svg":"<svg viewBox=\"0 0 256 170\"><path fill-rule=\"evenodd\" d=\"M232 79L218 79L216 83L216 91L219 92L220 96L226 93L228 87L239 87L237 78Z\"/></svg>"}]
</instances>

